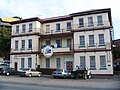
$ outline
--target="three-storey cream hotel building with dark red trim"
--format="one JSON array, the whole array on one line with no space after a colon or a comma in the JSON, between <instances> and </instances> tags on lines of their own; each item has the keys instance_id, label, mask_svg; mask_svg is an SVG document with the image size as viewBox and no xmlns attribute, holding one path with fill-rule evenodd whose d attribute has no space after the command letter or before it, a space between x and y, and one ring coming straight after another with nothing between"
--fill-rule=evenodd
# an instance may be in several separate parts
<instances>
[{"instance_id":1,"label":"three-storey cream hotel building with dark red trim","mask_svg":"<svg viewBox=\"0 0 120 90\"><path fill-rule=\"evenodd\" d=\"M12 22L11 67L85 66L94 75L113 75L111 9L96 9L46 19ZM43 47L51 45L46 58Z\"/></svg>"}]
</instances>

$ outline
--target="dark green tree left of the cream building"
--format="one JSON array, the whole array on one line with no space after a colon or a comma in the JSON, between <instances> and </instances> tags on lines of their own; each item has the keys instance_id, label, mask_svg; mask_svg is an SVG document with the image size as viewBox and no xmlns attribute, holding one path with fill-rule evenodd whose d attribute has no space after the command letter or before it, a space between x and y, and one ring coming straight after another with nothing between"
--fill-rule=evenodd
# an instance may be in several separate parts
<instances>
[{"instance_id":1,"label":"dark green tree left of the cream building","mask_svg":"<svg viewBox=\"0 0 120 90\"><path fill-rule=\"evenodd\" d=\"M0 56L10 59L11 27L0 26Z\"/></svg>"}]
</instances>

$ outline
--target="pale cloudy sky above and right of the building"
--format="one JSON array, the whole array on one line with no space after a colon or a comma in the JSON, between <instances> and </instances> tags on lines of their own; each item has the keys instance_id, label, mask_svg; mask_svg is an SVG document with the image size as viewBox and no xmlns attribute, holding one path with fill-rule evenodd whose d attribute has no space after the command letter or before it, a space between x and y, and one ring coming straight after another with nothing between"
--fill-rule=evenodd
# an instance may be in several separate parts
<instances>
[{"instance_id":1,"label":"pale cloudy sky above and right of the building","mask_svg":"<svg viewBox=\"0 0 120 90\"><path fill-rule=\"evenodd\" d=\"M114 39L120 39L119 0L0 0L0 18L48 18L91 9L111 8Z\"/></svg>"}]
</instances>

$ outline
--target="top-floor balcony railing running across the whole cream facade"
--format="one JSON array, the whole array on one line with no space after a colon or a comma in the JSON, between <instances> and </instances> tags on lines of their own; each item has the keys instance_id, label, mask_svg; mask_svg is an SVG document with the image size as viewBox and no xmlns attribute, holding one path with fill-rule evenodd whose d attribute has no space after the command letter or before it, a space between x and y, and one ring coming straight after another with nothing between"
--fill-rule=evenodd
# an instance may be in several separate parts
<instances>
[{"instance_id":1,"label":"top-floor balcony railing running across the whole cream facade","mask_svg":"<svg viewBox=\"0 0 120 90\"><path fill-rule=\"evenodd\" d=\"M93 29L93 28L102 28L102 27L109 27L110 23L109 21L103 21L102 23L83 23L82 25L79 24L73 24L71 27L66 27L66 28L61 28L60 30L56 29L50 29L46 30L46 28L32 28L32 31L29 31L29 28L25 29L25 32L22 32L22 29L19 29L18 32L14 29L12 31L12 35L19 35L19 34L31 34L31 33L39 33L39 34L59 34L59 33L67 33L75 30L88 30L88 29ZM56 28L56 27L55 27Z\"/></svg>"}]
</instances>

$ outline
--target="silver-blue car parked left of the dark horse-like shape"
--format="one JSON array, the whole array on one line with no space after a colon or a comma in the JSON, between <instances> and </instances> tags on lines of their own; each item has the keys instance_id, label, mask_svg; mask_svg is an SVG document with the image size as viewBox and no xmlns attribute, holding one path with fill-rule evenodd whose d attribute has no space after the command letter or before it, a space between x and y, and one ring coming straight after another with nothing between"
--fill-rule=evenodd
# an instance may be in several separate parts
<instances>
[{"instance_id":1,"label":"silver-blue car parked left of the dark horse-like shape","mask_svg":"<svg viewBox=\"0 0 120 90\"><path fill-rule=\"evenodd\" d=\"M57 77L70 78L70 76L71 76L71 73L64 69L56 69L55 71L52 72L53 78L57 78Z\"/></svg>"}]
</instances>

